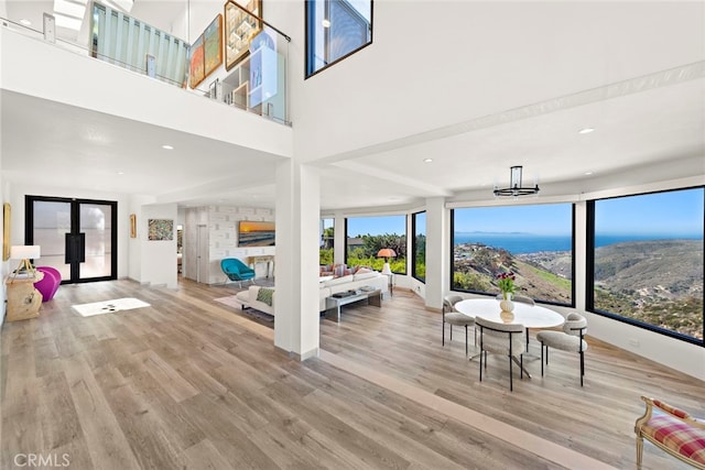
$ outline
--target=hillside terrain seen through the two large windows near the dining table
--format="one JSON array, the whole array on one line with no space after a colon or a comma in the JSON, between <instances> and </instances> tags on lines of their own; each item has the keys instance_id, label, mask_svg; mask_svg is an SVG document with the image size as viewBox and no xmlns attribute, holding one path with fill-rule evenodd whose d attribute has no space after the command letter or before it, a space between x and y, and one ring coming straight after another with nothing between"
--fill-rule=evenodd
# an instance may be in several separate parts
<instances>
[{"instance_id":1,"label":"hillside terrain seen through the two large windows near the dining table","mask_svg":"<svg viewBox=\"0 0 705 470\"><path fill-rule=\"evenodd\" d=\"M513 255L481 243L456 245L455 288L497 292L495 277L517 275L517 289L540 300L571 302L566 251ZM703 242L622 242L595 250L595 306L651 325L703 337Z\"/></svg>"}]
</instances>

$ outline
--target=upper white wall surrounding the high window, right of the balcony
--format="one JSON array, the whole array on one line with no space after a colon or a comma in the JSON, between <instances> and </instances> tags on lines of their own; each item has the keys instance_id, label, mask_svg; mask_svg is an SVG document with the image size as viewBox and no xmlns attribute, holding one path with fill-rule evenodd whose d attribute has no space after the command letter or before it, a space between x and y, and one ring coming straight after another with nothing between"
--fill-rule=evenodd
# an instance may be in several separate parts
<instances>
[{"instance_id":1,"label":"upper white wall surrounding the high window, right of the balcony","mask_svg":"<svg viewBox=\"0 0 705 470\"><path fill-rule=\"evenodd\" d=\"M276 15L283 20L276 24L294 37L290 55L303 64L304 2L285 9L296 11L286 19ZM292 69L297 157L311 161L391 142L702 61L701 2L674 8L670 2L377 1L373 9L370 46L305 81L299 78L303 72ZM488 24L496 34L486 36ZM528 25L542 34L527 34ZM677 47L662 47L663 36ZM620 54L610 53L611 62L606 50ZM487 84L497 80L506 84L505 92L486 94Z\"/></svg>"}]
</instances>

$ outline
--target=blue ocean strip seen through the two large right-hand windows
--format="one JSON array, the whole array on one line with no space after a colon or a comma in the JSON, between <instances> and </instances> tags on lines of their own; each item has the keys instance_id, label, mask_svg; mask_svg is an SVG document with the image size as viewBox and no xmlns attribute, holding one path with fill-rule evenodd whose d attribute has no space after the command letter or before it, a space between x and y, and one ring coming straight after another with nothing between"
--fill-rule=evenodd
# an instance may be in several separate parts
<instances>
[{"instance_id":1,"label":"blue ocean strip seen through the two large right-hand windows","mask_svg":"<svg viewBox=\"0 0 705 470\"><path fill-rule=\"evenodd\" d=\"M670 239L690 239L692 237L670 237ZM621 243L626 241L664 240L665 237L654 236L596 236L595 245L606 247L608 244ZM494 248L503 248L510 253L535 253L538 251L568 251L571 247L571 236L538 236L533 233L456 233L455 244L479 242Z\"/></svg>"}]
</instances>

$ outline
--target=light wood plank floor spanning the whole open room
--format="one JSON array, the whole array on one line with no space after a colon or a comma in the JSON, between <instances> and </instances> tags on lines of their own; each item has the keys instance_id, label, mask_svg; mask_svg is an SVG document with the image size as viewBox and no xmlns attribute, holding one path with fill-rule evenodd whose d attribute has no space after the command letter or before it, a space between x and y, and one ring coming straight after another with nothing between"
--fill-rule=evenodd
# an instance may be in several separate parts
<instances>
[{"instance_id":1,"label":"light wood plank floor spanning the whole open room","mask_svg":"<svg viewBox=\"0 0 705 470\"><path fill-rule=\"evenodd\" d=\"M70 469L631 469L640 395L705 409L705 383L592 338L584 387L561 351L544 378L529 362L513 393L505 358L480 383L462 330L442 347L440 315L402 289L322 320L321 357L296 362L271 328L213 302L229 293L62 286L40 318L7 323L1 468L33 453ZM70 309L120 297L151 307ZM681 468L646 445L644 469Z\"/></svg>"}]
</instances>

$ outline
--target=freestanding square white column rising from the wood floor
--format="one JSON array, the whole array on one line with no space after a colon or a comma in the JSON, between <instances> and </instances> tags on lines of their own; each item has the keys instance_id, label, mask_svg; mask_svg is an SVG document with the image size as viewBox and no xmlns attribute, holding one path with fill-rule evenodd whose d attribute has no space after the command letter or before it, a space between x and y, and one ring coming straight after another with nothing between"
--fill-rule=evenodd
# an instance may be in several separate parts
<instances>
[{"instance_id":1,"label":"freestanding square white column rising from the wood floor","mask_svg":"<svg viewBox=\"0 0 705 470\"><path fill-rule=\"evenodd\" d=\"M278 164L274 346L300 360L318 356L318 168Z\"/></svg>"}]
</instances>

